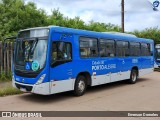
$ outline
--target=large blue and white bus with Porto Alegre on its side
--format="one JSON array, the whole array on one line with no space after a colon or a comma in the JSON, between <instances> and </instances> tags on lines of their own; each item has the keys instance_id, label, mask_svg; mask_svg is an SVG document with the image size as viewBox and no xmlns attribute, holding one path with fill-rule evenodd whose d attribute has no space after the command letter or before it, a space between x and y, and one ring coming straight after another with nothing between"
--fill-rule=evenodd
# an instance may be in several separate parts
<instances>
[{"instance_id":1,"label":"large blue and white bus with Porto Alegre on its side","mask_svg":"<svg viewBox=\"0 0 160 120\"><path fill-rule=\"evenodd\" d=\"M87 86L134 84L151 73L154 41L58 26L31 28L19 31L13 63L12 83L21 91L81 96Z\"/></svg>"}]
</instances>

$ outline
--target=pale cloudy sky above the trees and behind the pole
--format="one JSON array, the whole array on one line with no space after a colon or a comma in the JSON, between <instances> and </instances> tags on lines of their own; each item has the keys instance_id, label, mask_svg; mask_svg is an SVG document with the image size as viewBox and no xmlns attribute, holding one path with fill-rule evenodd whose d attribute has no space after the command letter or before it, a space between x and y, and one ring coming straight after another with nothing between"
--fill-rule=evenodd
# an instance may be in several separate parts
<instances>
[{"instance_id":1,"label":"pale cloudy sky above the trees and behind the pole","mask_svg":"<svg viewBox=\"0 0 160 120\"><path fill-rule=\"evenodd\" d=\"M59 8L64 16L79 16L83 21L121 25L121 0L25 0L37 4L47 14ZM125 31L160 28L160 11L153 11L148 0L125 1ZM152 0L150 0L152 1Z\"/></svg>"}]
</instances>

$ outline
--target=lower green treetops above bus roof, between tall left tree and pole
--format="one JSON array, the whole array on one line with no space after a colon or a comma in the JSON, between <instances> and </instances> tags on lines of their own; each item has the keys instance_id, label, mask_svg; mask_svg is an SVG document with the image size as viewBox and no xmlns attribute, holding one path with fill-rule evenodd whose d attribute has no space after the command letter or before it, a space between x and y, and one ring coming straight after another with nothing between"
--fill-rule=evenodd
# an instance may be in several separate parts
<instances>
[{"instance_id":1,"label":"lower green treetops above bus roof, between tall left tree and pole","mask_svg":"<svg viewBox=\"0 0 160 120\"><path fill-rule=\"evenodd\" d=\"M86 24L83 20L80 19L79 16L75 18L65 17L59 9L54 9L52 14L48 17L48 25L57 25L63 27L77 28L77 29L85 29L92 30L97 32L105 32L105 31L121 31L121 28L118 25L114 25L111 23L99 23L94 22L93 20Z\"/></svg>"}]
</instances>

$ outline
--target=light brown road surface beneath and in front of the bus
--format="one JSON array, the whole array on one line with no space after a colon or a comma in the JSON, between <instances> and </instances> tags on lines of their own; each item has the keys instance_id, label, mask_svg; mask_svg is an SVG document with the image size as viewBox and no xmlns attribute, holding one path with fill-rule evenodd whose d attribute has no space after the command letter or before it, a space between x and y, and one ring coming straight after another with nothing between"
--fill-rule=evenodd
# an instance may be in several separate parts
<instances>
[{"instance_id":1,"label":"light brown road surface beneath and in front of the bus","mask_svg":"<svg viewBox=\"0 0 160 120\"><path fill-rule=\"evenodd\" d=\"M145 75L139 78L137 83L133 85L122 81L92 87L81 97L74 97L71 92L50 96L25 93L0 97L0 111L21 110L160 111L160 72ZM127 118L123 118L123 120L125 119ZM155 119L158 120L160 118Z\"/></svg>"}]
</instances>

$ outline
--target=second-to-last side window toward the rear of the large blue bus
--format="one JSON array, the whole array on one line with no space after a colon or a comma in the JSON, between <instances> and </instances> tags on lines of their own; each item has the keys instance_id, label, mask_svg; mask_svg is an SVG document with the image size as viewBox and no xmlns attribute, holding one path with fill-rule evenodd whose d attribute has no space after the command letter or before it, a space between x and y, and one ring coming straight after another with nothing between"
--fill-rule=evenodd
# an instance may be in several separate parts
<instances>
[{"instance_id":1,"label":"second-to-last side window toward the rear of the large blue bus","mask_svg":"<svg viewBox=\"0 0 160 120\"><path fill-rule=\"evenodd\" d=\"M140 43L130 42L130 56L139 56L140 52Z\"/></svg>"}]
</instances>

